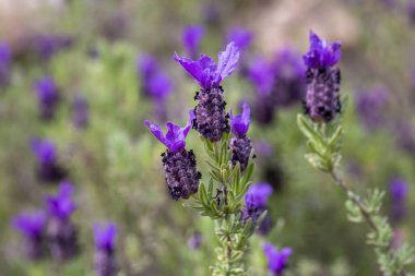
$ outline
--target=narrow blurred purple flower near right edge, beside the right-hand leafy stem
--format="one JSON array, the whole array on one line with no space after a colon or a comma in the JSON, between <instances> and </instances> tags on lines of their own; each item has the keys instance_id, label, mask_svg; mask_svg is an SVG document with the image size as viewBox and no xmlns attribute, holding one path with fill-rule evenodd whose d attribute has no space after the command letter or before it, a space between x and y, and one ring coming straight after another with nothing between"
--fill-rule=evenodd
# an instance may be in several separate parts
<instances>
[{"instance_id":1,"label":"narrow blurred purple flower near right edge, beside the right-hand leafy stem","mask_svg":"<svg viewBox=\"0 0 415 276\"><path fill-rule=\"evenodd\" d=\"M395 223L401 221L407 213L407 193L408 185L403 179L393 179L390 182L390 193L392 201L392 219Z\"/></svg>"}]
</instances>

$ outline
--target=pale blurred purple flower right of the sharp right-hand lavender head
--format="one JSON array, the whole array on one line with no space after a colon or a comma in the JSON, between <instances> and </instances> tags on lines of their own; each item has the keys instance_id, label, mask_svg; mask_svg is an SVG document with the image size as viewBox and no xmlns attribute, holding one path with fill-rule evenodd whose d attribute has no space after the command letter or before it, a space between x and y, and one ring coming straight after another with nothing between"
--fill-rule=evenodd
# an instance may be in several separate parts
<instances>
[{"instance_id":1,"label":"pale blurred purple flower right of the sharp right-hand lavender head","mask_svg":"<svg viewBox=\"0 0 415 276\"><path fill-rule=\"evenodd\" d=\"M358 92L356 96L357 113L368 130L375 130L384 123L384 107L388 99L389 92L383 86Z\"/></svg>"}]
</instances>

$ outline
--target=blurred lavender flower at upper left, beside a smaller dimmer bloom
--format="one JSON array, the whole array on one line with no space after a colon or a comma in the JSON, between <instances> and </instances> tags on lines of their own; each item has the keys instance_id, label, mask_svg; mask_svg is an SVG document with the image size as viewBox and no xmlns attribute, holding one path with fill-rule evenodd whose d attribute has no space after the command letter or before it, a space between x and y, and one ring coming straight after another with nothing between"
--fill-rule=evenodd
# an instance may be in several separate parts
<instances>
[{"instance_id":1,"label":"blurred lavender flower at upper left, beside a smaller dimmer bloom","mask_svg":"<svg viewBox=\"0 0 415 276\"><path fill-rule=\"evenodd\" d=\"M54 119L56 108L59 104L58 86L54 79L45 76L36 85L36 95L40 111L40 118L44 120Z\"/></svg>"}]
</instances>

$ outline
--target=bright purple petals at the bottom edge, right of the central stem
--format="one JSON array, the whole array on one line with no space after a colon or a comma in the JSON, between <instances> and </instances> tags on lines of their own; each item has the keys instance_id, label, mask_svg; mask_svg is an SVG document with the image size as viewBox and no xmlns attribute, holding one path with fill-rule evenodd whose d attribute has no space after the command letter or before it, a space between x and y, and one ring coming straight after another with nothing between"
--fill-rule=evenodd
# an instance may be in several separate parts
<instances>
[{"instance_id":1,"label":"bright purple petals at the bottom edge, right of the central stem","mask_svg":"<svg viewBox=\"0 0 415 276\"><path fill-rule=\"evenodd\" d=\"M268 268L274 276L282 276L287 266L288 257L293 254L290 248L284 248L280 252L271 243L264 243L263 251L268 260Z\"/></svg>"}]
</instances>

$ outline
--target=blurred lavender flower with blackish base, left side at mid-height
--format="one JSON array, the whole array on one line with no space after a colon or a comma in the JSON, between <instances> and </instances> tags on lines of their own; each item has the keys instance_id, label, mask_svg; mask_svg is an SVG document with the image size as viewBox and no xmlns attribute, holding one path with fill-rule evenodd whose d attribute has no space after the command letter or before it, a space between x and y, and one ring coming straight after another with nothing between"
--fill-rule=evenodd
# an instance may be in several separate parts
<instances>
[{"instance_id":1,"label":"blurred lavender flower with blackish base, left side at mid-height","mask_svg":"<svg viewBox=\"0 0 415 276\"><path fill-rule=\"evenodd\" d=\"M49 140L34 139L31 147L37 159L37 176L45 182L55 182L64 178L66 172L58 163L58 151Z\"/></svg>"}]
</instances>

